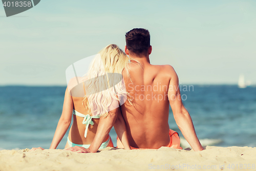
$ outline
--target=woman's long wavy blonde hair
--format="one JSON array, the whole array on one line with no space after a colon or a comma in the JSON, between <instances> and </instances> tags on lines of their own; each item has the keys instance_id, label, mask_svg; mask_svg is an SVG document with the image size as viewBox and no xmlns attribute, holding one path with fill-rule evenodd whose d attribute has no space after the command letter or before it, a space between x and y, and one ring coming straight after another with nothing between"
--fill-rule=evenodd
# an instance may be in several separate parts
<instances>
[{"instance_id":1,"label":"woman's long wavy blonde hair","mask_svg":"<svg viewBox=\"0 0 256 171\"><path fill-rule=\"evenodd\" d=\"M122 79L122 71L128 70L128 63L128 56L114 44L106 46L95 56L84 77L86 96L83 99L93 116L107 116L109 111L119 107L121 101L131 103Z\"/></svg>"}]
</instances>

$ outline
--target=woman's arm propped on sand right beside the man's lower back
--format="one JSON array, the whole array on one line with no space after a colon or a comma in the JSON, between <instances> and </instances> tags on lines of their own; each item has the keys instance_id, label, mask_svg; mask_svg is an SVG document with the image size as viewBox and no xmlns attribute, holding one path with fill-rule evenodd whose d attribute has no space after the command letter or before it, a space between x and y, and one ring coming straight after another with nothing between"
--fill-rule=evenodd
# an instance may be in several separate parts
<instances>
[{"instance_id":1,"label":"woman's arm propped on sand right beside the man's lower back","mask_svg":"<svg viewBox=\"0 0 256 171\"><path fill-rule=\"evenodd\" d=\"M116 130L116 134L117 134L118 138L120 139L121 143L123 144L124 149L131 149L130 143L129 143L128 137L127 137L125 122L124 122L120 107L118 109L118 114L117 114L116 122L114 124L114 128Z\"/></svg>"}]
</instances>

